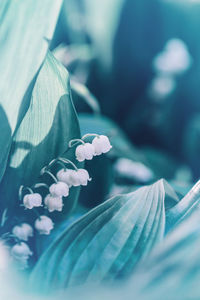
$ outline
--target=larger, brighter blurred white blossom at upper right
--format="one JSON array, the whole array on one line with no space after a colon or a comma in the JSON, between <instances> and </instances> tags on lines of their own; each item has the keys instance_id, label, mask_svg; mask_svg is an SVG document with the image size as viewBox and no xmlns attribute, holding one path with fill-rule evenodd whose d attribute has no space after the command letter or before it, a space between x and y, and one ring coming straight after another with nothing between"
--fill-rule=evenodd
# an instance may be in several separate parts
<instances>
[{"instance_id":1,"label":"larger, brighter blurred white blossom at upper right","mask_svg":"<svg viewBox=\"0 0 200 300\"><path fill-rule=\"evenodd\" d=\"M187 71L191 63L192 58L185 43L180 39L171 39L155 57L153 66L157 72L177 75Z\"/></svg>"}]
</instances>

